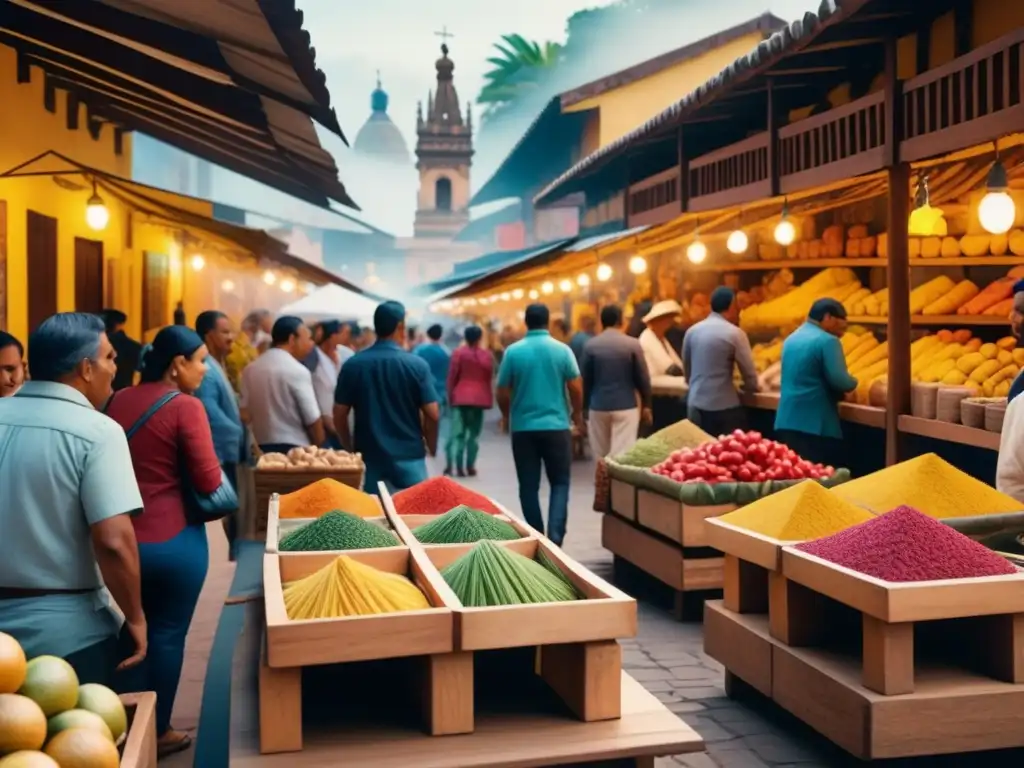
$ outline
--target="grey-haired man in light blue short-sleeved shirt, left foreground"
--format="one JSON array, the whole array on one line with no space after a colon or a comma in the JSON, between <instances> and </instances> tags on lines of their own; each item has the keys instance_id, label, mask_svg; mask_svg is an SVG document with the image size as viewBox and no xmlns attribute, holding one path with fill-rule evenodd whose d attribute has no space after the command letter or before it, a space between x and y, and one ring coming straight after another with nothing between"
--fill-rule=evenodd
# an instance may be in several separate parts
<instances>
[{"instance_id":1,"label":"grey-haired man in light blue short-sleeved shirt, left foreground","mask_svg":"<svg viewBox=\"0 0 1024 768\"><path fill-rule=\"evenodd\" d=\"M96 315L67 312L29 338L32 381L0 399L0 629L31 658L66 658L79 680L110 684L119 617L145 657L138 548L142 509L124 430L100 409L115 351Z\"/></svg>"}]
</instances>

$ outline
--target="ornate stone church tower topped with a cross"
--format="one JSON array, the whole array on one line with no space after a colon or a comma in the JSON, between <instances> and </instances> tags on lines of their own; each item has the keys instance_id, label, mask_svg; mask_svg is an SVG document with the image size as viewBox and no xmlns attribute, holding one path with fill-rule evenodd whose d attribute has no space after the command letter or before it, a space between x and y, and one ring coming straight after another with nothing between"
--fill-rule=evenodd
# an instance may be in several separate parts
<instances>
[{"instance_id":1,"label":"ornate stone church tower topped with a cross","mask_svg":"<svg viewBox=\"0 0 1024 768\"><path fill-rule=\"evenodd\" d=\"M416 238L451 240L469 222L469 166L473 157L473 117L463 117L452 74L446 43L441 45L437 89L427 94L416 116L416 169L420 193L416 207Z\"/></svg>"}]
</instances>

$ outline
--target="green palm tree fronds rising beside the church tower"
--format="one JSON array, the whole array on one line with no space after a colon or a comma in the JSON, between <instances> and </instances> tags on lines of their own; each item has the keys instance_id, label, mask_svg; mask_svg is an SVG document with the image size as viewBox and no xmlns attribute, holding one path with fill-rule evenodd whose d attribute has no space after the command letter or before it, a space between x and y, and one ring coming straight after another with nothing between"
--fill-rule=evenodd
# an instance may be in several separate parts
<instances>
[{"instance_id":1,"label":"green palm tree fronds rising beside the church tower","mask_svg":"<svg viewBox=\"0 0 1024 768\"><path fill-rule=\"evenodd\" d=\"M558 43L527 41L522 35L503 35L495 43L501 55L487 61L495 69L484 75L486 81L476 97L484 104L483 119L493 119L519 100L527 91L536 89L560 58L562 46Z\"/></svg>"}]
</instances>

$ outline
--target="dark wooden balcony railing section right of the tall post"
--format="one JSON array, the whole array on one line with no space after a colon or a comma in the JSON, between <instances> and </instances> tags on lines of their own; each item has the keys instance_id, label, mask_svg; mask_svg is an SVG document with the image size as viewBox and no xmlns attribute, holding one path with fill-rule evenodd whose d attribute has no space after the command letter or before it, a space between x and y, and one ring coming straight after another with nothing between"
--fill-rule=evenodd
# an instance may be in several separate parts
<instances>
[{"instance_id":1,"label":"dark wooden balcony railing section right of the tall post","mask_svg":"<svg viewBox=\"0 0 1024 768\"><path fill-rule=\"evenodd\" d=\"M903 84L900 158L912 162L1024 126L1024 28Z\"/></svg>"}]
</instances>

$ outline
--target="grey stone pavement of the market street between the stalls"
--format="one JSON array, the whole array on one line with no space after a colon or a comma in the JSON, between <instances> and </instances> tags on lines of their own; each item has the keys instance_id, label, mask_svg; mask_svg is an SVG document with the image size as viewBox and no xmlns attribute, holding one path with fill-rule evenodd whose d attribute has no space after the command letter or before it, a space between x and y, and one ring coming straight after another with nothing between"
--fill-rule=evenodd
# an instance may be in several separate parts
<instances>
[{"instance_id":1,"label":"grey stone pavement of the market street between the stalls","mask_svg":"<svg viewBox=\"0 0 1024 768\"><path fill-rule=\"evenodd\" d=\"M510 510L518 510L511 449L507 436L498 433L496 418L488 419L481 442L479 477L465 480L466 484L497 499ZM441 466L438 464L433 469L433 474L439 474ZM591 510L593 469L591 461L573 465L565 549L595 572L610 579L611 557L600 544L600 515ZM542 488L542 497L546 499L546 488ZM210 573L188 634L185 667L174 709L175 727L191 732L198 721L213 632L233 571L233 566L227 562L226 545L219 525L210 526ZM664 595L657 592L650 590L652 599L640 602L639 633L635 639L623 643L624 663L631 675L700 733L708 743L707 754L667 758L658 761L659 768L828 768L850 762L837 748L770 702L748 705L727 698L721 666L702 651L699 605L695 606L690 621L680 623L671 616L664 601L659 601ZM639 596L639 593L634 594ZM185 768L191 761L189 751L162 762L161 766ZM992 765L987 760L972 761L972 765L982 763ZM936 763L931 761L927 765Z\"/></svg>"}]
</instances>

